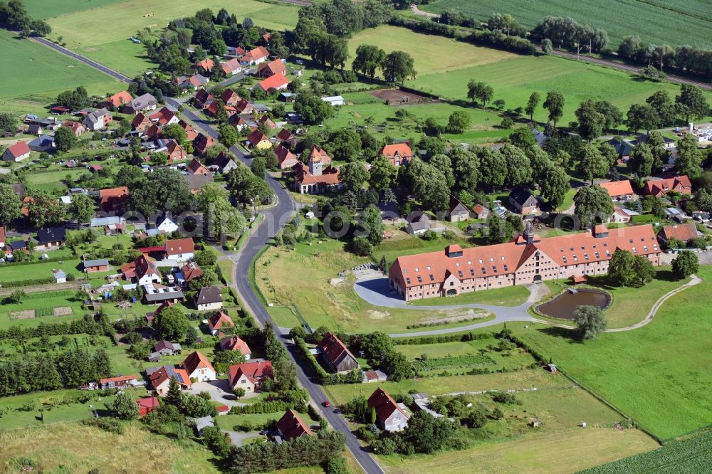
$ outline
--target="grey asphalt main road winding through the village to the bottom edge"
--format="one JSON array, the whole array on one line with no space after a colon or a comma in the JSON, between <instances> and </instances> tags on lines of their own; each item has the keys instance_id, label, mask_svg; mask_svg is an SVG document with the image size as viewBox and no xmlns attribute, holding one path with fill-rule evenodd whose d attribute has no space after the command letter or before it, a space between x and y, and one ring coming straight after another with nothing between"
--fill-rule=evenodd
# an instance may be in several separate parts
<instances>
[{"instance_id":1,"label":"grey asphalt main road winding through the village to the bottom edge","mask_svg":"<svg viewBox=\"0 0 712 474\"><path fill-rule=\"evenodd\" d=\"M51 41L48 41L45 38L35 37L33 38L33 40L37 41L38 43L42 43L43 45L48 46L49 48L53 48L54 50L60 53L75 58L76 60L79 60L82 63L85 63L86 65L90 65L92 68L98 69L103 73L110 75L112 78L122 81L123 83L129 83L131 81L131 78L128 78L127 76L121 73L117 73L115 70L107 68L104 65L101 65L100 63L90 60L89 58L85 58L84 56L80 56L77 53L73 53L73 51L69 51L67 48L63 48L62 46L52 43ZM176 109L181 105L180 102L172 98L165 98L165 100L168 105L171 105ZM195 125L197 125L206 135L217 139L218 134L216 130L214 130L214 128L211 127L211 124L204 118L199 117L199 115L197 115L192 110L187 109L187 107L184 108L183 114L190 120L192 120L192 122L194 122ZM239 149L238 147L231 147L230 151L241 162L249 166L250 159L244 152L241 151L241 149ZM257 317L257 319L259 320L259 322L261 322L262 325L272 325L275 331L279 334L278 326L274 323L269 313L258 299L257 295L254 293L252 285L250 285L248 275L252 260L255 258L261 248L266 246L267 243L269 243L269 241L271 240L271 238L273 238L276 233L278 233L278 231L280 231L280 229L287 223L287 221L289 221L290 217L296 209L296 204L295 201L292 199L292 196L290 196L289 192L284 189L281 184L276 181L276 179L268 175L267 183L275 192L277 204L271 209L266 209L265 211L262 211L264 218L257 226L256 230L251 233L251 236L248 238L248 241L246 241L243 248L241 249L239 258L236 262L235 282L240 295L243 297L244 301L248 305L248 308L251 310L253 315ZM376 463L374 458L372 458L372 456L365 450L365 448L362 448L356 436L351 433L344 419L339 414L336 414L333 408L324 409L324 407L321 405L321 403L327 399L327 396L324 394L324 391L315 381L310 379L310 377L304 372L304 369L299 363L298 357L295 357L296 354L294 352L293 345L286 344L286 341L284 340L282 342L286 345L288 349L288 354L290 354L290 357L297 365L297 379L299 380L300 385L309 391L309 396L315 404L318 404L321 410L321 414L327 419L329 424L333 426L334 429L344 433L344 435L346 436L347 448L349 448L349 450L354 455L363 470L365 470L365 472L369 474L383 473L383 470Z\"/></svg>"}]
</instances>

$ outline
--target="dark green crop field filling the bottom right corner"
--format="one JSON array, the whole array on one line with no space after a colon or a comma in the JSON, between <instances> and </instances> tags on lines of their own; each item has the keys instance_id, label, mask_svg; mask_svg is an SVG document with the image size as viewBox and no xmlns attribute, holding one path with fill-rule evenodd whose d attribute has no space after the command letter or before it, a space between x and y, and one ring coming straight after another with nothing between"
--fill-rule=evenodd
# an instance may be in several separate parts
<instances>
[{"instance_id":1,"label":"dark green crop field filling the bottom right corner","mask_svg":"<svg viewBox=\"0 0 712 474\"><path fill-rule=\"evenodd\" d=\"M712 465L712 453L709 449L711 443L712 433L707 432L682 441L673 441L649 453L600 465L581 474L663 473L673 466L676 473L701 473Z\"/></svg>"}]
</instances>

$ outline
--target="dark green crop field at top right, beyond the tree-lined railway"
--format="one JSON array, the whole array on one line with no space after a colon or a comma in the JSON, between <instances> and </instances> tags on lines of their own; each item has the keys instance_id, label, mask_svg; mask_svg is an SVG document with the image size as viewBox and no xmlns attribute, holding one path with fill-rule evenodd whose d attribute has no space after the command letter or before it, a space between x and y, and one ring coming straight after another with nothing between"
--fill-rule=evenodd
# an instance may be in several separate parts
<instances>
[{"instance_id":1,"label":"dark green crop field at top right, beyond the tree-lined railway","mask_svg":"<svg viewBox=\"0 0 712 474\"><path fill-rule=\"evenodd\" d=\"M547 15L570 16L580 23L604 28L614 48L627 35L638 35L644 42L669 44L673 48L684 44L711 48L712 12L708 7L705 0L530 0L506 4L496 0L431 0L420 6L432 13L461 11L479 21L487 21L493 13L511 14L528 29Z\"/></svg>"}]
</instances>

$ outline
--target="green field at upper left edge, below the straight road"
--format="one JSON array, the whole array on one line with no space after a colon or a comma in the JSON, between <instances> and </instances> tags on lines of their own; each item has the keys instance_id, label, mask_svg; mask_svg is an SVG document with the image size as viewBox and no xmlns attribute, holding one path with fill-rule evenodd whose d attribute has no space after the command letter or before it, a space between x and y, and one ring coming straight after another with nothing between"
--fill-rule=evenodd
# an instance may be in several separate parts
<instances>
[{"instance_id":1,"label":"green field at upper left edge, below the straight road","mask_svg":"<svg viewBox=\"0 0 712 474\"><path fill-rule=\"evenodd\" d=\"M12 68L0 71L0 110L47 114L46 106L58 93L83 85L88 93L115 93L117 80L78 60L63 56L28 39L16 39L10 31L0 30L0 51Z\"/></svg>"}]
</instances>

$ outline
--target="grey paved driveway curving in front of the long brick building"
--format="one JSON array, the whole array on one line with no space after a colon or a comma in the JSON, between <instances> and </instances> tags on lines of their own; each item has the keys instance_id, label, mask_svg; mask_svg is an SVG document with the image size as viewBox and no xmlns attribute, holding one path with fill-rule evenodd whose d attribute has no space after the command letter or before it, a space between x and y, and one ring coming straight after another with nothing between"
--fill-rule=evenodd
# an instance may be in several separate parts
<instances>
[{"instance_id":1,"label":"grey paved driveway curving in front of the long brick building","mask_svg":"<svg viewBox=\"0 0 712 474\"><path fill-rule=\"evenodd\" d=\"M432 305L432 306L411 306L408 305L405 300L403 300L398 293L396 293L388 285L387 278L371 278L369 280L359 280L356 282L354 289L357 295L362 297L367 302L374 306L397 308L400 310L431 310L431 311L441 311L441 310L458 310L461 308L476 307L482 308L483 310L488 310L495 315L495 319L478 322L471 325L451 327L449 329L431 330L431 331L421 331L421 332L407 332L402 334L391 334L390 337L415 337L415 336L431 336L431 335L442 335L448 334L450 332L461 332L478 329L480 327L488 327L499 325L502 322L507 321L534 321L534 318L529 315L527 308L534 302L540 300L544 295L548 293L548 288L546 285L527 285L527 289L530 291L528 299L518 306L496 306L496 305L480 305L478 303L471 303L467 305ZM437 299L433 300L434 302Z\"/></svg>"}]
</instances>

